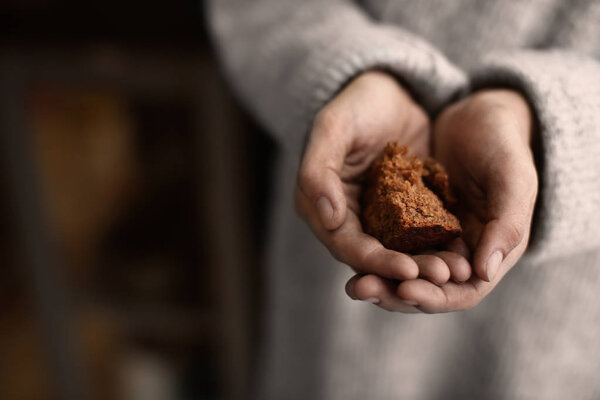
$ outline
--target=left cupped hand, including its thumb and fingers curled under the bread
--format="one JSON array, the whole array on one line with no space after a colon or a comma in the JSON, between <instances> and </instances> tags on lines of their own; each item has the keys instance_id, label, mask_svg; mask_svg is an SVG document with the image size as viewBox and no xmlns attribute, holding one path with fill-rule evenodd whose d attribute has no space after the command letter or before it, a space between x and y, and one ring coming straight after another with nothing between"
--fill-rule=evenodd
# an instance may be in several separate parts
<instances>
[{"instance_id":1,"label":"left cupped hand, including its thumb and fingers curled under the bread","mask_svg":"<svg viewBox=\"0 0 600 400\"><path fill-rule=\"evenodd\" d=\"M466 260L452 263L454 269L444 261L456 254L411 257L385 249L361 228L359 194L374 158L389 141L425 157L429 140L425 112L383 72L360 75L317 115L298 173L296 208L334 257L359 273L390 280L422 276L442 284L451 275L469 278ZM357 298L369 299L360 290Z\"/></svg>"}]
</instances>

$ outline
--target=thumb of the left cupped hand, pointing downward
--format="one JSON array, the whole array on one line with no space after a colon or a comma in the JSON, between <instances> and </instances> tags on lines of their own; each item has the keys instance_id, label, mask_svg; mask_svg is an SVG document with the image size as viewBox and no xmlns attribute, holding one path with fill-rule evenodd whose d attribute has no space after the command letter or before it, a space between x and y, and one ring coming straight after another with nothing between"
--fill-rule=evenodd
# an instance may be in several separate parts
<instances>
[{"instance_id":1,"label":"thumb of the left cupped hand, pointing downward","mask_svg":"<svg viewBox=\"0 0 600 400\"><path fill-rule=\"evenodd\" d=\"M298 171L298 188L310 200L325 229L337 229L346 216L346 198L340 171L347 153L339 119L322 113L315 119Z\"/></svg>"}]
</instances>

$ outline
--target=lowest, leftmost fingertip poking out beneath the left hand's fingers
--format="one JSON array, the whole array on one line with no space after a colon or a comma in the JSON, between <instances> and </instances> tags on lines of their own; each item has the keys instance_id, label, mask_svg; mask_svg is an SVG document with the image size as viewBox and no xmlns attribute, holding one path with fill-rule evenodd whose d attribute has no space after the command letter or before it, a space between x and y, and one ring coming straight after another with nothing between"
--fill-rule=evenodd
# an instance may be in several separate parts
<instances>
[{"instance_id":1,"label":"lowest, leftmost fingertip poking out beneath the left hand's fingers","mask_svg":"<svg viewBox=\"0 0 600 400\"><path fill-rule=\"evenodd\" d=\"M396 286L397 283L376 275L355 275L346 284L346 293L355 300L368 301L387 311L420 312L396 295Z\"/></svg>"}]
</instances>

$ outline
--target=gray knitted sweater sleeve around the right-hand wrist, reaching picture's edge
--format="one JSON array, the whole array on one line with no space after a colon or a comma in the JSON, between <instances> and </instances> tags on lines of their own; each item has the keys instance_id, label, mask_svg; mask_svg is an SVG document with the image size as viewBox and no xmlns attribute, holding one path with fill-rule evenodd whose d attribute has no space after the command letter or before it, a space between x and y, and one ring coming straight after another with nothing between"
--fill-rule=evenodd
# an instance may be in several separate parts
<instances>
[{"instance_id":1,"label":"gray knitted sweater sleeve around the right-hand wrist, reaching picture's edge","mask_svg":"<svg viewBox=\"0 0 600 400\"><path fill-rule=\"evenodd\" d=\"M566 51L489 54L472 85L521 91L537 117L540 191L528 256L600 246L600 63Z\"/></svg>"}]
</instances>

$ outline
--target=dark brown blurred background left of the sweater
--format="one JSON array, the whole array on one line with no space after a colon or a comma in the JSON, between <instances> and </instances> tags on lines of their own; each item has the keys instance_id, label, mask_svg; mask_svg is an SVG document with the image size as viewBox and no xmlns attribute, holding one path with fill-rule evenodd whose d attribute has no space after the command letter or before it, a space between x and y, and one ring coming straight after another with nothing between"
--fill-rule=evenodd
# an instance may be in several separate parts
<instances>
[{"instance_id":1,"label":"dark brown blurred background left of the sweater","mask_svg":"<svg viewBox=\"0 0 600 400\"><path fill-rule=\"evenodd\" d=\"M274 144L200 1L0 3L0 399L238 399Z\"/></svg>"}]
</instances>

